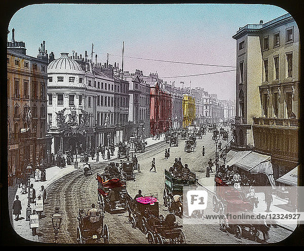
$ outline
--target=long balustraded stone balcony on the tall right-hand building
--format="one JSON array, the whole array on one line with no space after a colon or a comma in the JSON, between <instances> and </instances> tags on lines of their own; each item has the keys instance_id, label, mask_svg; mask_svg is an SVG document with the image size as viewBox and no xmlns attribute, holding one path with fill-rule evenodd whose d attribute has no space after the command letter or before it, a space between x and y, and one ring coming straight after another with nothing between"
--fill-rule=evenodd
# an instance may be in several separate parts
<instances>
[{"instance_id":1,"label":"long balustraded stone balcony on the tall right-hand building","mask_svg":"<svg viewBox=\"0 0 304 251\"><path fill-rule=\"evenodd\" d=\"M263 125L267 127L288 127L299 128L300 119L298 118L264 118L254 117L252 118L253 125Z\"/></svg>"}]
</instances>

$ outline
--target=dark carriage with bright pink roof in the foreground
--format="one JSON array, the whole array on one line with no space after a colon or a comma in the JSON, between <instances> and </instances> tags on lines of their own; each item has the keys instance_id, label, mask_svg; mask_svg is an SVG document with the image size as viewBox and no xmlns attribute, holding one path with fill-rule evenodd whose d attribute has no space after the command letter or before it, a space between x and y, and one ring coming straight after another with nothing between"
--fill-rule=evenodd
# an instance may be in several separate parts
<instances>
[{"instance_id":1,"label":"dark carriage with bright pink roof in the foreground","mask_svg":"<svg viewBox=\"0 0 304 251\"><path fill-rule=\"evenodd\" d=\"M185 243L181 225L175 223L173 214L164 218L159 214L159 201L155 196L142 196L136 199L128 195L129 221L133 228L139 228L146 234L148 242Z\"/></svg>"}]
</instances>

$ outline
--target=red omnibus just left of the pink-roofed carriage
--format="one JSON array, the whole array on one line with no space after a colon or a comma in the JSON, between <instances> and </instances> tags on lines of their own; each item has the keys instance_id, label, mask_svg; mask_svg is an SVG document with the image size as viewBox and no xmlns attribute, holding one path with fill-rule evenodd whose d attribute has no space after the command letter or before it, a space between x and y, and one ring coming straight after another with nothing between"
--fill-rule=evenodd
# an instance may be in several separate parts
<instances>
[{"instance_id":1,"label":"red omnibus just left of the pink-roofed carriage","mask_svg":"<svg viewBox=\"0 0 304 251\"><path fill-rule=\"evenodd\" d=\"M98 205L102 211L115 212L127 209L126 181L119 178L109 179L107 175L97 173L96 180L98 182ZM113 197L109 197L109 192L113 192ZM112 199L112 200L111 200Z\"/></svg>"}]
</instances>

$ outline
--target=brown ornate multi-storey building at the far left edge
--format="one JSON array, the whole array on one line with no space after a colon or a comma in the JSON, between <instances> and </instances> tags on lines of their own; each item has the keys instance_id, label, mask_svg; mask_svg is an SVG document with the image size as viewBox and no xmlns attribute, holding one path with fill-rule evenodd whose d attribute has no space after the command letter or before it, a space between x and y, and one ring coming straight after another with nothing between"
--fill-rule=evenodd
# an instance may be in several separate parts
<instances>
[{"instance_id":1,"label":"brown ornate multi-storey building at the far left edge","mask_svg":"<svg viewBox=\"0 0 304 251\"><path fill-rule=\"evenodd\" d=\"M26 55L25 43L7 42L8 168L24 172L27 164L50 163L51 138L46 137L47 65L45 41L37 57Z\"/></svg>"}]
</instances>

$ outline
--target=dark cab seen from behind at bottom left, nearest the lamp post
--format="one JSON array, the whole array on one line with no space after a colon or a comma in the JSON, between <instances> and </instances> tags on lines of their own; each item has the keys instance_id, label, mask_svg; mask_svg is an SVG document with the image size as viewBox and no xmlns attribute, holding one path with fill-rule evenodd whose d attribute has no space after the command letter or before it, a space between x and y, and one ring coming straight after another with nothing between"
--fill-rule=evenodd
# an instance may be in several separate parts
<instances>
[{"instance_id":1,"label":"dark cab seen from behind at bottom left, nearest the lamp post","mask_svg":"<svg viewBox=\"0 0 304 251\"><path fill-rule=\"evenodd\" d=\"M94 240L103 243L109 243L109 230L106 224L103 224L104 215L100 212L97 216L88 218L83 209L79 210L77 226L77 242L87 243Z\"/></svg>"}]
</instances>

